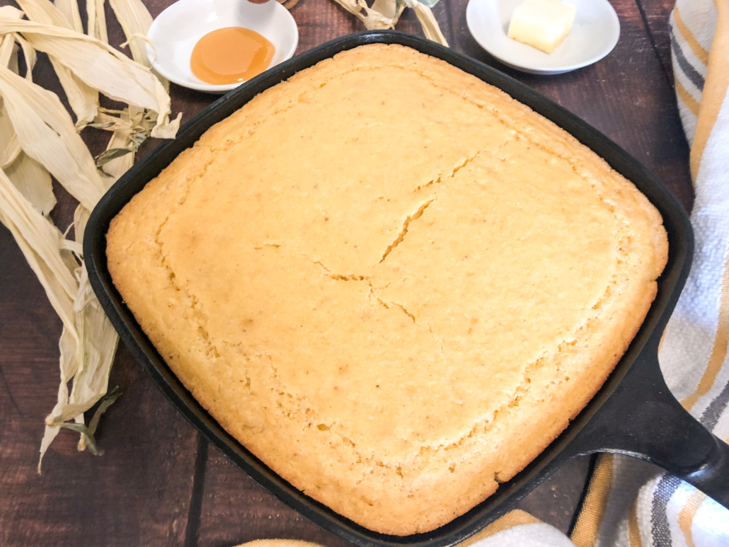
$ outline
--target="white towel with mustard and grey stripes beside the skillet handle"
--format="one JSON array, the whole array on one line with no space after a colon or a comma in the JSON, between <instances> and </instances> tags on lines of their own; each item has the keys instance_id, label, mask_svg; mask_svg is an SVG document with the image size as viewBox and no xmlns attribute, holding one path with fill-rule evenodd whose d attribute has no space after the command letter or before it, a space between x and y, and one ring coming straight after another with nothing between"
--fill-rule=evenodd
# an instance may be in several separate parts
<instances>
[{"instance_id":1,"label":"white towel with mustard and grey stripes beside the skillet handle","mask_svg":"<svg viewBox=\"0 0 729 547\"><path fill-rule=\"evenodd\" d=\"M671 50L691 144L696 247L659 361L682 405L729 441L729 0L677 0ZM467 543L565 545L555 529L516 513ZM605 454L571 540L577 547L729 547L729 510L653 465Z\"/></svg>"}]
</instances>

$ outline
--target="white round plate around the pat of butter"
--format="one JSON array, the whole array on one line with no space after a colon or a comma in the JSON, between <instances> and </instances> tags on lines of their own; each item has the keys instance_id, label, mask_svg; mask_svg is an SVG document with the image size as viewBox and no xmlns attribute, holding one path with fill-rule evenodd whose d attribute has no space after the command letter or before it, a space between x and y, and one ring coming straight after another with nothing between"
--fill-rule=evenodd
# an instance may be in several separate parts
<instances>
[{"instance_id":1,"label":"white round plate around the pat of butter","mask_svg":"<svg viewBox=\"0 0 729 547\"><path fill-rule=\"evenodd\" d=\"M514 9L524 0L470 0L468 29L484 50L514 69L532 74L562 74L581 69L612 51L620 36L620 22L607 0L563 0L577 7L574 24L552 53L507 36Z\"/></svg>"}]
</instances>

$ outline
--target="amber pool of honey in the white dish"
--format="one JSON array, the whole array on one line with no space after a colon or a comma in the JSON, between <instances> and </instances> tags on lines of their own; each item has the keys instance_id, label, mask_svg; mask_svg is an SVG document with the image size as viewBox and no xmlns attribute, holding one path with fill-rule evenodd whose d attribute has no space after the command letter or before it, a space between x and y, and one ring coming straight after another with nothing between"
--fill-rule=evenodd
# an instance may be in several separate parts
<instances>
[{"instance_id":1,"label":"amber pool of honey in the white dish","mask_svg":"<svg viewBox=\"0 0 729 547\"><path fill-rule=\"evenodd\" d=\"M268 69L275 52L268 39L249 28L218 28L195 44L190 69L208 84L234 84Z\"/></svg>"}]
</instances>

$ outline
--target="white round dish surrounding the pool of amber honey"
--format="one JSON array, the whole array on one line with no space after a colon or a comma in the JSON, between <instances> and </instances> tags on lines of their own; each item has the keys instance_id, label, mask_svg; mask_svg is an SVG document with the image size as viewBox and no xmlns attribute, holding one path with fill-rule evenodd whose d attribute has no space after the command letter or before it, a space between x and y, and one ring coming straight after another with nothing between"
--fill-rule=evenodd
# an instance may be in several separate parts
<instances>
[{"instance_id":1,"label":"white round dish surrounding the pool of amber honey","mask_svg":"<svg viewBox=\"0 0 729 547\"><path fill-rule=\"evenodd\" d=\"M252 4L248 0L179 0L165 9L149 27L147 44L152 67L171 82L185 88L225 93L243 82L212 85L195 77L190 55L198 40L218 28L240 26L265 36L276 47L270 66L290 59L299 43L299 31L289 10L276 0ZM270 67L269 67L270 68Z\"/></svg>"}]
</instances>

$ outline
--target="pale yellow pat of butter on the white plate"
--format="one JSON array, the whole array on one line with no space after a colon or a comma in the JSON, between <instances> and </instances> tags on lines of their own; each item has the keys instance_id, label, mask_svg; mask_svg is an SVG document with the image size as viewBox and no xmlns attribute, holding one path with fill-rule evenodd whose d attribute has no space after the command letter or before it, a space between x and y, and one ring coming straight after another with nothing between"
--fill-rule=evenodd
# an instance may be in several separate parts
<instances>
[{"instance_id":1,"label":"pale yellow pat of butter on the white plate","mask_svg":"<svg viewBox=\"0 0 729 547\"><path fill-rule=\"evenodd\" d=\"M552 53L569 34L577 8L558 0L526 0L509 24L509 37Z\"/></svg>"}]
</instances>

